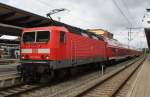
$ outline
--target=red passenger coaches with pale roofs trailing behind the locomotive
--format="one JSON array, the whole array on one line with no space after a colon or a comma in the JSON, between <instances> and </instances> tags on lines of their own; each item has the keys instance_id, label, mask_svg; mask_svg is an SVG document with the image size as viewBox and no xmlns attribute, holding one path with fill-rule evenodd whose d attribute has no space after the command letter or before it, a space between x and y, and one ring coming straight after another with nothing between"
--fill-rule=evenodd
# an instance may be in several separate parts
<instances>
[{"instance_id":1,"label":"red passenger coaches with pale roofs trailing behind the locomotive","mask_svg":"<svg viewBox=\"0 0 150 97\"><path fill-rule=\"evenodd\" d=\"M122 60L140 55L140 51L129 49L127 45L119 43L115 39L105 38L107 42L107 56L109 61Z\"/></svg>"}]
</instances>

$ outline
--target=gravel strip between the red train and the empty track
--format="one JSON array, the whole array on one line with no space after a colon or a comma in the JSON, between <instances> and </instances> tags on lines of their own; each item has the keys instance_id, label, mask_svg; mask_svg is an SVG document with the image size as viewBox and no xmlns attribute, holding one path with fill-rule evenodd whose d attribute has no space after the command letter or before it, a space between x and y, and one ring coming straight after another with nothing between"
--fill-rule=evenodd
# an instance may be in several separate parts
<instances>
[{"instance_id":1,"label":"gravel strip between the red train and the empty track","mask_svg":"<svg viewBox=\"0 0 150 97\"><path fill-rule=\"evenodd\" d=\"M129 61L127 61L127 62L129 62ZM112 71L116 68L121 67L121 65L125 65L125 63L127 63L127 62L122 62L120 64L116 64L115 66L108 67L105 70L105 74L109 73L110 71ZM100 71L92 72L90 74L86 74L86 75L82 75L82 76L77 77L77 78L66 80L64 82L61 82L61 83L58 83L55 85L40 88L40 89L35 90L35 91L29 91L28 93L22 94L20 97L47 97L47 96L51 97L52 95L55 95L58 92L66 89L66 88L67 89L76 88L76 87L79 87L80 85L82 85L84 83L88 83L88 82L90 82L94 79L97 79L99 77L101 77ZM61 97L61 96L58 96L58 97Z\"/></svg>"}]
</instances>

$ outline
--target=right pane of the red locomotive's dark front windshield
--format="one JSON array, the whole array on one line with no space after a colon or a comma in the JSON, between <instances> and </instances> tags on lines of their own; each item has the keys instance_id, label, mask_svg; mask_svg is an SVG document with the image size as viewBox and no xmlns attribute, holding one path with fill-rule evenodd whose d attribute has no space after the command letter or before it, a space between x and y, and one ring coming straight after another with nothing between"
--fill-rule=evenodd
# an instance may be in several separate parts
<instances>
[{"instance_id":1,"label":"right pane of the red locomotive's dark front windshield","mask_svg":"<svg viewBox=\"0 0 150 97\"><path fill-rule=\"evenodd\" d=\"M36 36L36 42L48 42L50 38L49 31L38 31Z\"/></svg>"}]
</instances>

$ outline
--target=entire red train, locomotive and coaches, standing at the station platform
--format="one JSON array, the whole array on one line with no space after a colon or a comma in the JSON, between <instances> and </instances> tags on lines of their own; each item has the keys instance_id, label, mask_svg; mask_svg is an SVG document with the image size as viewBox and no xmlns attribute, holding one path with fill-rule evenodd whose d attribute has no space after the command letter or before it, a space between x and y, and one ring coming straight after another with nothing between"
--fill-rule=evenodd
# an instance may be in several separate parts
<instances>
[{"instance_id":1,"label":"entire red train, locomotive and coaches, standing at the station platform","mask_svg":"<svg viewBox=\"0 0 150 97\"><path fill-rule=\"evenodd\" d=\"M58 72L63 74L63 70L68 72L90 63L107 65L141 54L115 40L66 24L24 28L20 53L19 72L25 81L51 79Z\"/></svg>"}]
</instances>

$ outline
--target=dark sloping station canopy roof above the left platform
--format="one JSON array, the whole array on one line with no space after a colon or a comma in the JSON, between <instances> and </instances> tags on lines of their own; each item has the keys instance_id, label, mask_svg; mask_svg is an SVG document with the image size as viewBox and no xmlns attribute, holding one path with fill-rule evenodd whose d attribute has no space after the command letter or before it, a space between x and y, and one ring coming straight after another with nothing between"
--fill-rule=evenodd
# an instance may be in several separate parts
<instances>
[{"instance_id":1,"label":"dark sloping station canopy roof above the left platform","mask_svg":"<svg viewBox=\"0 0 150 97\"><path fill-rule=\"evenodd\" d=\"M0 23L18 27L37 27L50 24L50 19L0 3Z\"/></svg>"}]
</instances>

